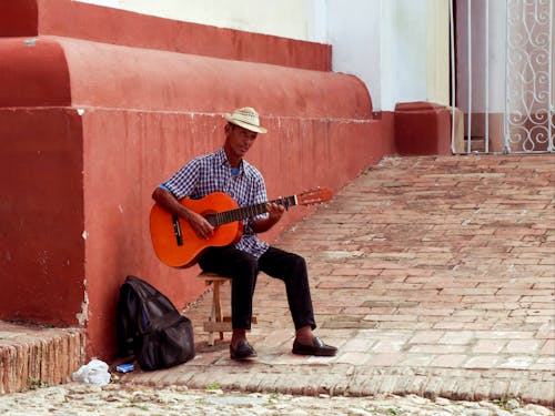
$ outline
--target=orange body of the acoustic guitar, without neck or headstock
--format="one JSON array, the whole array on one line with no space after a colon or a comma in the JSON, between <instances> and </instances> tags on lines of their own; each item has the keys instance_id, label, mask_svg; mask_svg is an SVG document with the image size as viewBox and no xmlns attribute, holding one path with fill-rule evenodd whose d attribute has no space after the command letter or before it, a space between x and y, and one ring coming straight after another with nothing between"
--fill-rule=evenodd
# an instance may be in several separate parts
<instances>
[{"instance_id":1,"label":"orange body of the acoustic guitar, without neck or headstock","mask_svg":"<svg viewBox=\"0 0 555 416\"><path fill-rule=\"evenodd\" d=\"M223 192L214 192L200 200L184 197L179 202L202 216L239 209L238 203ZM175 221L179 222L181 231L181 244L175 235L173 215L159 204L152 206L150 233L154 252L162 263L179 268L195 264L202 252L209 247L239 241L243 232L242 221L235 221L216 226L214 234L209 240L203 240L196 235L189 222L183 219Z\"/></svg>"}]
</instances>

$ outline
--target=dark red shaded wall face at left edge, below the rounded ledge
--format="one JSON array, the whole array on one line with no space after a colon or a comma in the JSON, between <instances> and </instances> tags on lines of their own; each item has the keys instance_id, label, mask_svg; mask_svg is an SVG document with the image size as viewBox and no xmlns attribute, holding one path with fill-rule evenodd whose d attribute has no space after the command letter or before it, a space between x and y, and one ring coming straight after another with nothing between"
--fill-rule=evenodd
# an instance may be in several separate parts
<instances>
[{"instance_id":1,"label":"dark red shaded wall face at left edge, below the rounded ledge","mask_svg":"<svg viewBox=\"0 0 555 416\"><path fill-rule=\"evenodd\" d=\"M0 318L75 325L84 296L82 126L0 109Z\"/></svg>"}]
</instances>

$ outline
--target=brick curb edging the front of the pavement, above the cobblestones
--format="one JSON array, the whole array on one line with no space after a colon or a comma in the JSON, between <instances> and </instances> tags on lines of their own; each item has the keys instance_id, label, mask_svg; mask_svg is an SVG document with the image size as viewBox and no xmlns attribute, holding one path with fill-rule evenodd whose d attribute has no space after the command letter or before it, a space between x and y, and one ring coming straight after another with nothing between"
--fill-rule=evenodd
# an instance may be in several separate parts
<instances>
[{"instance_id":1,"label":"brick curb edging the front of the pavement, above the cobblestones","mask_svg":"<svg viewBox=\"0 0 555 416\"><path fill-rule=\"evenodd\" d=\"M294 374L294 377L292 377ZM135 385L186 385L204 389L218 382L223 389L242 392L274 392L316 396L372 396L377 394L418 395L455 400L503 399L515 397L523 403L554 406L554 376L544 373L534 378L528 372L501 374L495 371L463 371L446 368L385 368L353 365L272 366L216 365L196 366L188 363L153 373L141 371L127 374L120 383Z\"/></svg>"}]
</instances>

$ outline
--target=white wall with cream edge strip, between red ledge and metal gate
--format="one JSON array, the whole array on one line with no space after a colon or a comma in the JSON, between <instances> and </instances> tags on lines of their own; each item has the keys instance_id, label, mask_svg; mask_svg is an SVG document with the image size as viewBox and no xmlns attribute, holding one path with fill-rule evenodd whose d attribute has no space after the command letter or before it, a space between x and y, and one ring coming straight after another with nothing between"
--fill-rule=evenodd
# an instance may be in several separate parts
<instances>
[{"instance_id":1,"label":"white wall with cream edge strip, between red ledge and metal gate","mask_svg":"<svg viewBox=\"0 0 555 416\"><path fill-rule=\"evenodd\" d=\"M450 103L447 0L323 2L333 70L361 78L374 111L407 101Z\"/></svg>"}]
</instances>

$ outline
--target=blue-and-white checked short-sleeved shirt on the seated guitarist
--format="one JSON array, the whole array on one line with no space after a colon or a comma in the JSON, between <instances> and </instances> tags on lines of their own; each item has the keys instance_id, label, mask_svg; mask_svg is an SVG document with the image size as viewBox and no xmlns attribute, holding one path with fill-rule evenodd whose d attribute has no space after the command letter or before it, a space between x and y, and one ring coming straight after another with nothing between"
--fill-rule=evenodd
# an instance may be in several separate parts
<instances>
[{"instance_id":1,"label":"blue-and-white checked short-sleeved shirt on the seated guitarist","mask_svg":"<svg viewBox=\"0 0 555 416\"><path fill-rule=\"evenodd\" d=\"M176 199L191 197L199 200L212 192L225 192L239 206L260 204L268 201L264 177L256 168L241 161L239 173L233 174L223 149L203 156L198 156L181 168L173 176L161 184ZM252 230L253 221L265 217L261 214L243 220L244 230L235 247L260 257L269 247L259 240Z\"/></svg>"}]
</instances>

